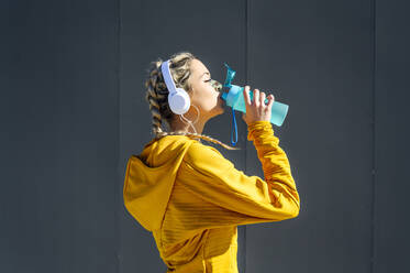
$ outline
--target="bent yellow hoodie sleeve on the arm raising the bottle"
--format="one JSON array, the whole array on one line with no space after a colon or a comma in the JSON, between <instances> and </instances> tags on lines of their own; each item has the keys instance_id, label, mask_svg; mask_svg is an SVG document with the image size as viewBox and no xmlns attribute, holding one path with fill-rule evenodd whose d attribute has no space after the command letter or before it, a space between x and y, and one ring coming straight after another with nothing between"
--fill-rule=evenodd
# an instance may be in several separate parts
<instances>
[{"instance_id":1,"label":"bent yellow hoodie sleeve on the arm raising the bottle","mask_svg":"<svg viewBox=\"0 0 410 273\"><path fill-rule=\"evenodd\" d=\"M217 149L198 142L191 144L182 160L181 185L204 200L202 216L196 218L198 226L203 221L202 228L213 223L280 221L299 215L300 200L289 161L278 145L272 123L255 121L247 130L247 140L256 148L265 179L245 175Z\"/></svg>"}]
</instances>

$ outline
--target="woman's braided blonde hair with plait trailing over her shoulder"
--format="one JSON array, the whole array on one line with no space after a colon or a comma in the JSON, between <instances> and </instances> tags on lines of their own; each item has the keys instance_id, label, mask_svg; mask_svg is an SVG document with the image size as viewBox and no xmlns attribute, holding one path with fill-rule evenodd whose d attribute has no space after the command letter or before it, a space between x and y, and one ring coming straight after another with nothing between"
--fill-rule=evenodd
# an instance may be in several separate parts
<instances>
[{"instance_id":1,"label":"woman's braided blonde hair with plait trailing over her shoulder","mask_svg":"<svg viewBox=\"0 0 410 273\"><path fill-rule=\"evenodd\" d=\"M192 59L197 58L193 54L189 52L179 52L170 56L169 70L173 76L175 86L178 88L184 88L187 92L190 92L191 86L188 83L188 78L191 75L190 63ZM160 139L165 135L187 135L195 139L202 139L217 144L222 145L228 150L241 150L240 148L233 148L226 145L219 140L215 140L209 135L185 132L182 130L166 132L160 128L163 119L166 121L168 128L170 128L171 121L175 119L176 114L170 110L168 105L168 89L165 85L164 77L160 70L160 65L163 59L157 58L149 63L148 76L145 80L146 95L145 99L149 103L149 110L153 116L153 133L155 139ZM215 86L215 85L214 85ZM218 90L222 88L221 85L217 85Z\"/></svg>"}]
</instances>

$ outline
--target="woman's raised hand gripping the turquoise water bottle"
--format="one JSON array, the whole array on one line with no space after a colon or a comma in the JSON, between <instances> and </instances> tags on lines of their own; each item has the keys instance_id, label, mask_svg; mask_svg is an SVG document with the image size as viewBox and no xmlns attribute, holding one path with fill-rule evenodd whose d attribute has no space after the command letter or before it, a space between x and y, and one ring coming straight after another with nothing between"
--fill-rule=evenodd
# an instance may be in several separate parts
<instances>
[{"instance_id":1,"label":"woman's raised hand gripping the turquoise water bottle","mask_svg":"<svg viewBox=\"0 0 410 273\"><path fill-rule=\"evenodd\" d=\"M275 101L274 95L268 96L268 103L265 105L265 92L261 92L259 89L254 90L253 101L251 101L250 86L245 86L243 90L243 97L245 99L246 113L242 114L242 119L250 125L254 121L270 121L272 105Z\"/></svg>"}]
</instances>

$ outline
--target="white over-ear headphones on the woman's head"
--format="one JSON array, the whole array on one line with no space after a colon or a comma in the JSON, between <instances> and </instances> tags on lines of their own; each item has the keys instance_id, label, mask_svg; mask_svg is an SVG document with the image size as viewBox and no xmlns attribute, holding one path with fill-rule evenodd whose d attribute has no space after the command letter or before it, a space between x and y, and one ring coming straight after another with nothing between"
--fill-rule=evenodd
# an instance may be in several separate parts
<instances>
[{"instance_id":1,"label":"white over-ear headphones on the woman's head","mask_svg":"<svg viewBox=\"0 0 410 273\"><path fill-rule=\"evenodd\" d=\"M169 59L166 62L163 62L160 65L160 70L163 72L165 85L168 88L168 105L173 112L177 114L182 114L188 112L191 100L189 98L189 95L184 88L177 88L175 86L173 76L169 72Z\"/></svg>"}]
</instances>

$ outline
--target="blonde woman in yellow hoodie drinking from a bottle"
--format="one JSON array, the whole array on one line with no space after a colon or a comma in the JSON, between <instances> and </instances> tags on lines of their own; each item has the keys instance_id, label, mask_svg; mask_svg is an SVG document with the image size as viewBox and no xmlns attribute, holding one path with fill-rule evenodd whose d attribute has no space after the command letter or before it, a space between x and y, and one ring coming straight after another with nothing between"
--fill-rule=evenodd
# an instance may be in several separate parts
<instances>
[{"instance_id":1,"label":"blonde woman in yellow hoodie drinking from a bottle","mask_svg":"<svg viewBox=\"0 0 410 273\"><path fill-rule=\"evenodd\" d=\"M140 155L129 159L124 205L153 233L168 273L237 272L239 225L280 221L299 214L290 165L269 122L274 96L265 105L266 95L255 89L251 101L250 86L244 88L242 118L265 179L247 176L200 141L234 149L201 134L209 119L223 113L221 84L191 53L174 54L169 63L176 87L189 95L190 108L182 114L170 110L163 62L153 62L145 87L155 138ZM163 120L170 132L162 130Z\"/></svg>"}]
</instances>

